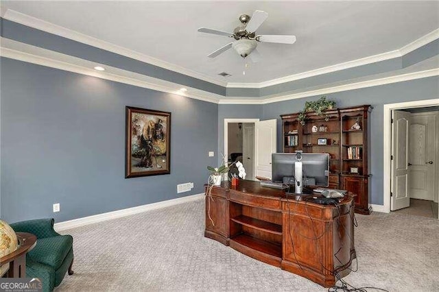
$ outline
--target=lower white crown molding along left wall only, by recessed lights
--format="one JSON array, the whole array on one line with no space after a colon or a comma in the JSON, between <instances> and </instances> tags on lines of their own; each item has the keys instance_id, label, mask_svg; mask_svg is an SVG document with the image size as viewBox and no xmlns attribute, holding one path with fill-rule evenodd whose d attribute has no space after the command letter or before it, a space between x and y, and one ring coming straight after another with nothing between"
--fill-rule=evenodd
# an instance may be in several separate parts
<instances>
[{"instance_id":1,"label":"lower white crown molding along left wall only, by recessed lights","mask_svg":"<svg viewBox=\"0 0 439 292\"><path fill-rule=\"evenodd\" d=\"M2 38L3 39L3 38ZM62 54L60 54L62 55ZM123 84L130 84L133 86L138 86L142 88L148 88L152 90L161 91L163 93L170 93L173 95L180 95L183 97L189 97L192 99L198 99L202 101L209 101L213 104L217 104L219 101L219 96L214 95L213 93L207 93L202 90L197 90L195 88L189 88L189 90L186 93L181 93L178 88L181 87L180 84L174 84L171 82L163 82L163 80L158 80L153 77L132 73L125 71L127 75L121 75L121 74L115 74L115 73L108 73L106 71L95 71L93 66L78 66L77 64L73 64L71 62L64 62L60 60L54 60L51 58L46 58L42 56L36 56L32 53L25 53L23 51L17 51L15 49L9 49L7 47L0 47L0 56L5 58L10 58L14 60L19 60L23 62L29 62L32 64L38 64L41 66L47 66L54 69L60 69L64 71L69 71L73 73L79 73L82 75L88 75L93 77L98 77L104 80L110 80L114 82L120 82ZM73 57L72 57L73 58ZM89 62L89 61L86 61ZM91 62L91 64L94 64ZM114 69L117 72L123 72L121 69L112 68L109 66L106 66L107 69ZM130 75L130 76L128 76ZM145 80L147 79L147 80Z\"/></svg>"}]
</instances>

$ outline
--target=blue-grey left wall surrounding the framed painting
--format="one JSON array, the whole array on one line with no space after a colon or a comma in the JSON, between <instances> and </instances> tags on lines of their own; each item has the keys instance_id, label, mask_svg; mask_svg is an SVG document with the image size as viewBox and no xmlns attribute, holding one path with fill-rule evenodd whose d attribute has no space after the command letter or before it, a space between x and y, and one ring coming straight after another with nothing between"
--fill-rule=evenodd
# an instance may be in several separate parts
<instances>
[{"instance_id":1,"label":"blue-grey left wall surrounding the framed painting","mask_svg":"<svg viewBox=\"0 0 439 292\"><path fill-rule=\"evenodd\" d=\"M203 193L217 104L8 58L0 85L2 219L65 221ZM171 112L170 175L124 178L125 106ZM184 182L195 188L177 194Z\"/></svg>"}]
</instances>

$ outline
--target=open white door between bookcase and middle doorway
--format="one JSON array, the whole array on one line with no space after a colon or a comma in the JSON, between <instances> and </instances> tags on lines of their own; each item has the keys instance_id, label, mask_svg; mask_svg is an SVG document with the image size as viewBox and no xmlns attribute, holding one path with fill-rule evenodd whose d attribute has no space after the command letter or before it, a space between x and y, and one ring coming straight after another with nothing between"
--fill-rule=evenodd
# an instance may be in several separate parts
<instances>
[{"instance_id":1,"label":"open white door between bookcase and middle doorway","mask_svg":"<svg viewBox=\"0 0 439 292\"><path fill-rule=\"evenodd\" d=\"M272 178L272 153L276 153L276 119L254 123L255 175Z\"/></svg>"}]
</instances>

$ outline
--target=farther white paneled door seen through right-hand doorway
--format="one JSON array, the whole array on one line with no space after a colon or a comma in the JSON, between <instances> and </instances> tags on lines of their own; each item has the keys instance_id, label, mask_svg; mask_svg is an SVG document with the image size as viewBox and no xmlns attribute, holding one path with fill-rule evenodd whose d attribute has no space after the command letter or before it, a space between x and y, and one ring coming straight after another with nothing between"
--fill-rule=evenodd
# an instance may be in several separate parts
<instances>
[{"instance_id":1,"label":"farther white paneled door seen through right-hand doorway","mask_svg":"<svg viewBox=\"0 0 439 292\"><path fill-rule=\"evenodd\" d=\"M410 124L409 194L414 199L434 200L436 165L436 113L412 114Z\"/></svg>"}]
</instances>

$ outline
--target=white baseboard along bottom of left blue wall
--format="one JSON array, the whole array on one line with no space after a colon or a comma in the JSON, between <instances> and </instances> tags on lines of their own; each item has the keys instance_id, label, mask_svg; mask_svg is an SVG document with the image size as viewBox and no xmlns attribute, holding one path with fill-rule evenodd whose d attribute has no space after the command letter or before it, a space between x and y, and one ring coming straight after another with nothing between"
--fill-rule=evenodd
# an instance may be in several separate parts
<instances>
[{"instance_id":1,"label":"white baseboard along bottom of left blue wall","mask_svg":"<svg viewBox=\"0 0 439 292\"><path fill-rule=\"evenodd\" d=\"M116 219L116 218L120 218L120 217L126 217L129 215L134 215L134 214L138 214L141 212L147 212L150 210L156 210L156 209L160 209L160 208L174 206L177 204L192 202L192 201L196 201L198 199L201 199L202 197L204 197L204 193L189 195L187 197L178 197L177 199L169 199L169 200L163 201L163 202L157 202L157 203L127 208L127 209L122 209L122 210L117 210L117 211L112 211L112 212L106 212L106 213L92 215L92 216L88 216L88 217L82 217L82 218L78 218L78 219L55 223L54 228L56 231L67 230L67 229L76 228L76 227L80 227L80 226L86 226L88 224L93 224L93 223L102 222L102 221L106 221L106 220Z\"/></svg>"}]
</instances>

